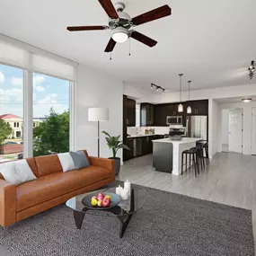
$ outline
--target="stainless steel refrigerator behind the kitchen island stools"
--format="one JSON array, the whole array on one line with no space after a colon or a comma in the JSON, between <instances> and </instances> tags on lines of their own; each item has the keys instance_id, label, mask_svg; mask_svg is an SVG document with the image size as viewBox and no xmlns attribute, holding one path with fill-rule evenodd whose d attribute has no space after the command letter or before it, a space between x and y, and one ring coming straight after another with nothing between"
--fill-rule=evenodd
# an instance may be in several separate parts
<instances>
[{"instance_id":1,"label":"stainless steel refrigerator behind the kitchen island stools","mask_svg":"<svg viewBox=\"0 0 256 256\"><path fill-rule=\"evenodd\" d=\"M190 116L186 119L187 137L207 140L207 116Z\"/></svg>"}]
</instances>

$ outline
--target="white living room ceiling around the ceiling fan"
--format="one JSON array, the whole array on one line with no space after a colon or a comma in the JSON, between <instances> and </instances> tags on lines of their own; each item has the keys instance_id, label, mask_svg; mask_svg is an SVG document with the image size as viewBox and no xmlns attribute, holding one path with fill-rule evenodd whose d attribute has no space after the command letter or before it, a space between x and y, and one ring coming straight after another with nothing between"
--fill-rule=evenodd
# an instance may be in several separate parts
<instances>
[{"instance_id":1,"label":"white living room ceiling around the ceiling fan","mask_svg":"<svg viewBox=\"0 0 256 256\"><path fill-rule=\"evenodd\" d=\"M148 91L150 83L179 90L179 73L184 82L193 81L191 90L249 84L247 67L256 59L255 0L123 2L131 16L172 7L172 16L136 28L158 40L154 49L132 40L131 57L126 42L117 45L110 61L104 53L109 31L66 31L72 25L107 25L97 0L1 0L0 32Z\"/></svg>"}]
</instances>

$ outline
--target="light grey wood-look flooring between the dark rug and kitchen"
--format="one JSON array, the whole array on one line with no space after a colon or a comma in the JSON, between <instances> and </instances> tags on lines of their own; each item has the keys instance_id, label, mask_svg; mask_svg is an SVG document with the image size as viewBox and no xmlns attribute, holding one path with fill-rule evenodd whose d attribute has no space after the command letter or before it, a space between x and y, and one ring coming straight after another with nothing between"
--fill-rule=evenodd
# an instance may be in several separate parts
<instances>
[{"instance_id":1,"label":"light grey wood-look flooring between the dark rug and kitchen","mask_svg":"<svg viewBox=\"0 0 256 256\"><path fill-rule=\"evenodd\" d=\"M148 154L125 162L116 179L128 179L137 185L251 209L256 245L256 156L218 153L196 178L192 169L182 176L155 172L152 154Z\"/></svg>"}]
</instances>

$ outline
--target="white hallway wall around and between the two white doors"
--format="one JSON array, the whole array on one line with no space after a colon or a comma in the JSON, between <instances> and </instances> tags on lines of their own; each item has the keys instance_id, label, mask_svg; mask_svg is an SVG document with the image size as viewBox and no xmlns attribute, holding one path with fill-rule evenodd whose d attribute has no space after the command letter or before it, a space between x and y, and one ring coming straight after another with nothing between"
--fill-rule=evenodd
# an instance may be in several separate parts
<instances>
[{"instance_id":1,"label":"white hallway wall around and between the two white doors","mask_svg":"<svg viewBox=\"0 0 256 256\"><path fill-rule=\"evenodd\" d=\"M243 154L252 154L252 108L256 108L256 102L223 103L219 104L219 112L222 110L243 109ZM218 141L221 148L221 139Z\"/></svg>"}]
</instances>

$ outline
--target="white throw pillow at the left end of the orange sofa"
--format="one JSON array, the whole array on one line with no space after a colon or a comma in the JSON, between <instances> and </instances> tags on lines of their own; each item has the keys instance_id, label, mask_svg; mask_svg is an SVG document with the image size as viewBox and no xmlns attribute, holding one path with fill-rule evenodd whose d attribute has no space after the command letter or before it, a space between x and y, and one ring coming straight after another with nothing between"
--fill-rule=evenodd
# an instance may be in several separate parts
<instances>
[{"instance_id":1,"label":"white throw pillow at the left end of the orange sofa","mask_svg":"<svg viewBox=\"0 0 256 256\"><path fill-rule=\"evenodd\" d=\"M26 160L1 163L0 172L4 176L4 180L13 185L20 185L37 179Z\"/></svg>"}]
</instances>

